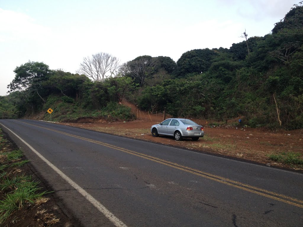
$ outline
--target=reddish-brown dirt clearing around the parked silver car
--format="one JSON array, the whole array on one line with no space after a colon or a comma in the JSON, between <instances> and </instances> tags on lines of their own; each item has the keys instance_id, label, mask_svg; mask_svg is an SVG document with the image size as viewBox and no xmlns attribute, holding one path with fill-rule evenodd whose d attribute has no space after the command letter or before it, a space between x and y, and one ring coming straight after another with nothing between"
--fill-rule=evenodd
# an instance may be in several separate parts
<instances>
[{"instance_id":1,"label":"reddish-brown dirt clearing around the parked silver car","mask_svg":"<svg viewBox=\"0 0 303 227\"><path fill-rule=\"evenodd\" d=\"M136 107L127 102L123 103L132 108L136 115ZM166 116L168 118L169 116ZM287 166L282 163L272 162L268 155L281 152L296 152L303 157L303 130L292 131L270 131L264 128L249 127L215 127L206 126L207 120L192 119L204 126L205 136L198 141L184 139L175 141L173 137L152 137L151 125L160 123L163 120L163 113L154 113L138 110L137 120L129 122L108 122L107 120L93 121L90 119L79 119L77 123L60 123L79 128L95 130L125 137L132 137L140 140L147 140L156 143L169 144L172 146L185 147L199 152L213 153L222 156L234 157L240 160L290 168L302 171L303 169ZM231 122L232 123L232 122ZM234 124L233 124L234 125Z\"/></svg>"}]
</instances>

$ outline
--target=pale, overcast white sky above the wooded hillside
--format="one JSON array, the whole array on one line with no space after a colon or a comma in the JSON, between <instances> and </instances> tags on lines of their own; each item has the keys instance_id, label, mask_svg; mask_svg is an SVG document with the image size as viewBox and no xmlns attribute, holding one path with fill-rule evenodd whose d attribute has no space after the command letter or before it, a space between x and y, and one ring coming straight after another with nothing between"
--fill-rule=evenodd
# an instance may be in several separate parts
<instances>
[{"instance_id":1,"label":"pale, overcast white sky above the wooded hillside","mask_svg":"<svg viewBox=\"0 0 303 227\"><path fill-rule=\"evenodd\" d=\"M39 61L75 73L83 57L110 53L177 61L192 49L230 48L264 36L298 0L0 0L0 95L13 70Z\"/></svg>"}]
</instances>

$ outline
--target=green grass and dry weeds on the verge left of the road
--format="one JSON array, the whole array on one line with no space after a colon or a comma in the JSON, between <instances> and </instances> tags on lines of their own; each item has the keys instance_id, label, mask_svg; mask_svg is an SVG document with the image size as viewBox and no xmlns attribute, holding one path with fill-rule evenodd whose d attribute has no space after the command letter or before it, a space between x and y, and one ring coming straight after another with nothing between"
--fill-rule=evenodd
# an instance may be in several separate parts
<instances>
[{"instance_id":1,"label":"green grass and dry weeds on the verge left of the road","mask_svg":"<svg viewBox=\"0 0 303 227\"><path fill-rule=\"evenodd\" d=\"M31 176L26 176L21 169L18 169L28 162L28 160L22 160L22 156L20 149L8 149L8 141L3 138L0 130L0 224L6 224L6 226L10 226L6 220L13 213L19 216L17 211L22 212L25 206L28 208L31 204L41 205L48 201L48 198L43 197L48 192L42 191L42 188L38 186L39 182L33 181ZM44 226L59 222L55 215L48 213L47 215ZM14 224L21 219L20 217L18 220L13 218L9 220L9 223Z\"/></svg>"}]
</instances>

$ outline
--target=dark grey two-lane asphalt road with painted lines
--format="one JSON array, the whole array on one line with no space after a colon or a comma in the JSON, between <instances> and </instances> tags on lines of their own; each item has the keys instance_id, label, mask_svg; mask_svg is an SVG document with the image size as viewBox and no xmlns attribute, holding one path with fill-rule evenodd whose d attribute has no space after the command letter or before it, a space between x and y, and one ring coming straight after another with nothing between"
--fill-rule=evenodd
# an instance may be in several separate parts
<instances>
[{"instance_id":1,"label":"dark grey two-lane asphalt road with painted lines","mask_svg":"<svg viewBox=\"0 0 303 227\"><path fill-rule=\"evenodd\" d=\"M301 173L41 121L0 127L83 226L303 226Z\"/></svg>"}]
</instances>

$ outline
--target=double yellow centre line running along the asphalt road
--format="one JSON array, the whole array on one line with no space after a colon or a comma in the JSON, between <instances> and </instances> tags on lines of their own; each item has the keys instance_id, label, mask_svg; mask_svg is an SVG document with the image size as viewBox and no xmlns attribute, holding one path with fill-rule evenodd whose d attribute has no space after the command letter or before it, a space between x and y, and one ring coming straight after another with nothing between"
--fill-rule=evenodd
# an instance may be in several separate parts
<instances>
[{"instance_id":1,"label":"double yellow centre line running along the asphalt road","mask_svg":"<svg viewBox=\"0 0 303 227\"><path fill-rule=\"evenodd\" d=\"M25 123L25 122L22 122L22 123ZM248 184L243 184L241 182L234 181L234 180L231 180L231 179L228 179L228 178L225 178L225 177L217 176L217 175L214 175L214 174L211 174L211 173L206 173L206 172L200 171L198 169L193 169L193 168L190 168L188 166L183 166L183 165L180 165L178 163L169 162L169 161L166 161L166 160L154 157L154 156L146 155L146 154L135 152L135 151L132 151L132 150L127 150L125 148L114 146L114 145L111 145L111 144L108 144L108 143L103 143L103 142L100 142L100 141L97 141L97 140L91 140L91 139L88 139L88 138L85 138L85 137L80 137L80 136L76 136L76 135L73 135L73 134L70 134L70 133L65 133L65 132L61 132L61 131L58 131L58 130L49 129L49 128L45 128L45 127L41 127L41 126L36 126L36 125L33 125L33 124L29 124L29 123L25 123L25 124L32 125L32 126L39 127L39 128L43 128L43 129L50 130L50 131L54 131L54 132L57 132L57 133L61 133L61 134L64 134L64 135L67 135L67 136L70 136L70 137L74 137L74 138L78 138L78 139L81 139L81 140L85 140L85 141L88 141L88 142L91 142L91 143L96 143L96 144L99 144L99 145L102 145L102 146L105 146L105 147L108 147L108 148L112 148L112 149L115 149L115 150L122 151L124 153L128 153L128 154L135 155L135 156L147 159L147 160L151 160L153 162L157 162L157 163L160 163L160 164L165 165L165 166L170 166L172 168L179 169L179 170L182 170L184 172L195 174L197 176L201 176L201 177L204 177L206 179L214 180L216 182L219 182L219 183L222 183L222 184L225 184L225 185L228 185L228 186L232 186L232 187L235 187L235 188L238 188L238 189L242 189L242 190L245 190L247 192L255 193L255 194L260 195L260 196L264 196L264 197L267 197L267 198L270 198L270 199L275 199L275 200L280 201L280 202L285 202L289 205L293 205L293 206L303 208L303 201L302 200L295 199L295 198L292 198L290 196L285 196L285 195L282 195L282 194L279 194L279 193L275 193L275 192L271 192L271 191L268 191L268 190L265 190L265 189L257 188L257 187L254 187L254 186L251 186L251 185L248 185Z\"/></svg>"}]
</instances>

